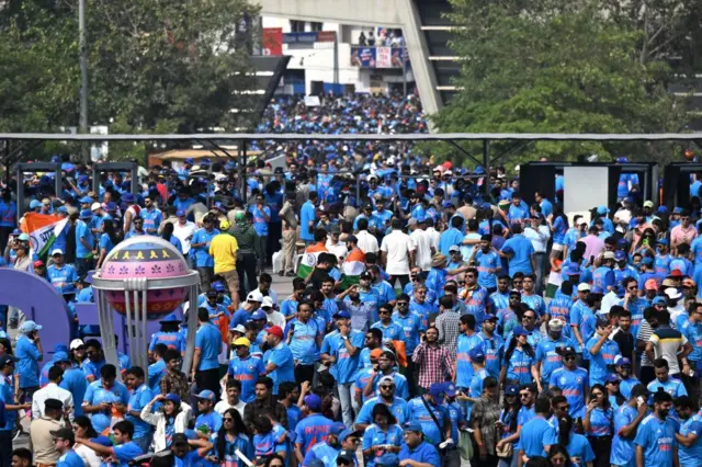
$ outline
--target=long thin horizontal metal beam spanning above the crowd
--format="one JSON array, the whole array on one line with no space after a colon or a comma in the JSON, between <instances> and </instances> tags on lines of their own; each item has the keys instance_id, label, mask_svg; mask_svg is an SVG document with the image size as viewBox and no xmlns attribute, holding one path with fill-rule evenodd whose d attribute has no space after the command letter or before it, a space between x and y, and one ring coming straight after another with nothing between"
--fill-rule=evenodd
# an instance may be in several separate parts
<instances>
[{"instance_id":1,"label":"long thin horizontal metal beam spanning above the crowd","mask_svg":"<svg viewBox=\"0 0 702 467\"><path fill-rule=\"evenodd\" d=\"M661 141L702 140L702 133L660 134L565 134L565 133L439 133L401 135L325 135L325 134L192 134L192 135L66 135L63 133L0 133L0 140L65 140L65 141L185 141L200 140L326 140L326 141L444 141L444 140L521 140L521 141Z\"/></svg>"}]
</instances>

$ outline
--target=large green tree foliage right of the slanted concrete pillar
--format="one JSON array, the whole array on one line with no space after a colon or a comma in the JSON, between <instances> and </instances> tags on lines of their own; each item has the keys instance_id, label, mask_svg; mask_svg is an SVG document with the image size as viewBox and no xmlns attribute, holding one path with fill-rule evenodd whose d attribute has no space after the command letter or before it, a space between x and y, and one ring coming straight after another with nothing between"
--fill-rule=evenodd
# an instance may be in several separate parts
<instances>
[{"instance_id":1,"label":"large green tree foliage right of the slanted concrete pillar","mask_svg":"<svg viewBox=\"0 0 702 467\"><path fill-rule=\"evenodd\" d=\"M442 132L664 133L684 125L669 64L641 60L643 31L604 0L453 0L461 91ZM499 149L509 143L497 143ZM660 157L668 145L535 143L517 161L579 155ZM667 153L667 152L664 152Z\"/></svg>"}]
</instances>

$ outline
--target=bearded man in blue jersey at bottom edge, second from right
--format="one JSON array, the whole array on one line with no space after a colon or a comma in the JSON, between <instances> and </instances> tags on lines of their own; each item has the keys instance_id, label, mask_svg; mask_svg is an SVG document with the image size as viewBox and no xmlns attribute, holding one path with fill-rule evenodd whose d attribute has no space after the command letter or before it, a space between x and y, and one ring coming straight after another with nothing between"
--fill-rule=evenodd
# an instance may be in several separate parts
<instances>
[{"instance_id":1,"label":"bearded man in blue jersey at bottom edge, second from right","mask_svg":"<svg viewBox=\"0 0 702 467\"><path fill-rule=\"evenodd\" d=\"M678 465L678 442L676 422L668 418L672 408L672 397L656 391L654 412L646 417L636 432L636 467L670 467Z\"/></svg>"}]
</instances>

